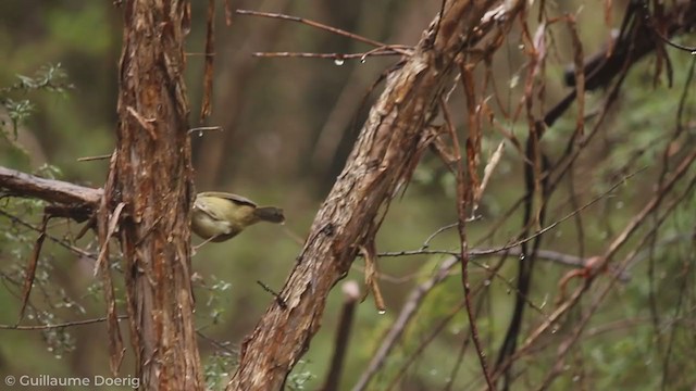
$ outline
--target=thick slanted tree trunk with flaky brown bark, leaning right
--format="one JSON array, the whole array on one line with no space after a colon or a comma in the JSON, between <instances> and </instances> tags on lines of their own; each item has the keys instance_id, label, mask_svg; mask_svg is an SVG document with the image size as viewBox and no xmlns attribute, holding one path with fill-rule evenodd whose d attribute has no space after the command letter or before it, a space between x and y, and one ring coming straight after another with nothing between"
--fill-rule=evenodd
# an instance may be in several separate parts
<instances>
[{"instance_id":1,"label":"thick slanted tree trunk with flaky brown bark, leaning right","mask_svg":"<svg viewBox=\"0 0 696 391\"><path fill-rule=\"evenodd\" d=\"M229 390L278 390L319 330L331 288L348 272L359 247L374 239L389 200L409 179L430 137L455 58L483 35L493 0L450 1L372 108L353 151L318 213L279 297L247 337ZM477 29L474 29L478 26Z\"/></svg>"}]
</instances>

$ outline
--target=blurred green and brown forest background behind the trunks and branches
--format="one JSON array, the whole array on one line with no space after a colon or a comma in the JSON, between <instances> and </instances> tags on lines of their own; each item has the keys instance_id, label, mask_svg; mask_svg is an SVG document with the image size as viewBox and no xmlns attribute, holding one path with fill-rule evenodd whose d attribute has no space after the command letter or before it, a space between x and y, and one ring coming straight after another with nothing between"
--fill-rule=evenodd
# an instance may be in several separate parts
<instances>
[{"instance_id":1,"label":"blurred green and brown forest background behind the trunks and branches","mask_svg":"<svg viewBox=\"0 0 696 391\"><path fill-rule=\"evenodd\" d=\"M388 0L233 3L234 8L298 15L378 41L403 45L419 40L440 7L439 1ZM614 1L608 12L611 17L606 16L599 3L562 1L548 5L555 14L574 15L587 55L607 47L610 27L620 26L626 2ZM199 126L203 96L204 21L206 2L192 2L186 70L192 127ZM28 94L34 108L21 124L16 141L0 143L0 165L85 186L102 186L109 161L77 159L109 154L115 143L121 34L121 12L111 2L0 3L0 53L3 53L0 88L15 84L17 75L42 75L47 70L55 71L58 64L65 73L59 79L64 86L71 85L60 93ZM556 102L569 91L564 72L573 63L574 52L572 35L566 25L554 26L550 35L544 99ZM689 37L693 35L680 40L686 43ZM523 40L509 39L506 45L490 65L497 84L497 96L492 99L513 109L524 93L520 80L527 72L526 58ZM220 126L223 130L191 136L196 187L199 191L231 191L260 204L278 205L286 211L287 223L251 227L232 241L204 245L194 256L199 278L196 315L210 384L224 379L238 343L274 300L256 281L272 289L279 289L285 281L318 209L344 166L365 119L366 108L377 93L363 98L380 75L398 61L395 56L369 56L364 62L254 58L252 53L353 53L369 49L347 37L278 20L233 15L232 25L226 26L225 15L217 13L213 109L200 125ZM543 250L581 260L601 252L650 199L661 175L664 151L672 157L693 149L693 97L685 97L688 86L693 86L689 74L693 56L668 50L673 71L671 86L664 74L656 77L660 65L655 56L645 58L631 70L598 136L574 163L573 179L562 185L562 190L549 201L548 222L582 211L549 230ZM594 91L586 96L588 122L601 110L604 93ZM453 96L451 104L463 108L465 102L461 96ZM561 140L575 131L576 110L569 111L554 131L545 136L544 147L549 155L560 156L563 152L566 142ZM458 127L464 123L464 116L455 117ZM502 125L521 138L526 135L524 117ZM672 138L673 129L682 125L687 129L686 136ZM493 126L484 131L484 165L505 140L509 139ZM688 174L693 178L694 169L689 168ZM621 185L608 194L617 184ZM684 199L666 217L649 245L638 245L638 239L631 243L639 254L625 270L626 280L617 285L596 311L581 344L564 362L556 386L679 389L694 384L696 378L688 375L696 373L693 370L696 364L688 360L688 352L696 344L693 332L688 332L695 321L696 198L691 184L685 180L681 188ZM510 242L520 230L522 211L508 211L523 191L523 156L508 141L476 211L477 218L468 225L472 248L502 247ZM377 250L382 253L419 250L427 241L428 249L456 251L456 229L445 229L428 239L457 222L456 195L455 176L436 154L426 152L408 188L391 202L377 235ZM598 201L584 207L597 198ZM40 223L36 213L39 210L40 203L33 201L11 205L12 213L34 226ZM21 305L16 282L22 280L36 232L7 217L0 217L0 229L3 232L0 304L8 308L0 314L0 324L13 325ZM647 225L645 232L649 229ZM67 238L79 228L63 222L51 230L55 237ZM87 235L76 244L96 251L97 241ZM45 244L42 254L37 274L41 289L33 293L27 320L44 324L102 316L103 302L89 260L77 257L53 242ZM372 299L358 307L343 377L346 388L362 374L411 290L448 257L424 251L412 256L380 257L383 274L380 286L387 311L380 314ZM478 297L485 304L477 323L486 351L495 357L512 312L519 260L510 254L494 278L482 265L497 260L475 260L472 283L486 286L486 293ZM361 265L356 262L346 280L362 283ZM548 316L560 295L559 282L570 270L552 261L537 262L536 268L527 298L525 325L530 328ZM475 353L469 351L463 361L459 357L462 335L469 327L464 311L452 313L460 303L461 290L458 278L445 279L433 290L374 380L377 389L386 388L395 376L400 377L397 383L405 390L430 390L446 384L453 384L453 389L462 389L464 384L482 387L481 382L468 381L472 376L481 381ZM322 383L333 354L343 302L340 290L334 290L322 329L290 376L288 387L316 389ZM568 324L582 318L585 310L570 314ZM0 330L0 375L108 375L103 324L76 327L79 329ZM434 330L438 333L430 340ZM558 336L555 331L546 337L548 343L558 342L564 330L569 329L559 324ZM423 345L426 348L420 350ZM410 357L417 358L410 363ZM126 355L123 366L126 373L132 367L128 360ZM554 349L526 360L518 381L530 389L557 363ZM408 368L406 375L398 375L401 368ZM460 369L456 373L453 368Z\"/></svg>"}]
</instances>

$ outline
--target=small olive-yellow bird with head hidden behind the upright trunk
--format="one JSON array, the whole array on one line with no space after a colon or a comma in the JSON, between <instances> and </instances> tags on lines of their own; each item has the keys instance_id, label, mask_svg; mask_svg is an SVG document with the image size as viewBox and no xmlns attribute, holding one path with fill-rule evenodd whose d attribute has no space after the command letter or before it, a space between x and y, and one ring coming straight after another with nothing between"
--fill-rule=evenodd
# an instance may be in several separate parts
<instances>
[{"instance_id":1,"label":"small olive-yellow bird with head hidden behind the upright trunk","mask_svg":"<svg viewBox=\"0 0 696 391\"><path fill-rule=\"evenodd\" d=\"M259 207L244 197L226 192L201 192L194 201L191 229L206 239L206 243L232 239L258 222L281 224L285 216L282 209Z\"/></svg>"}]
</instances>

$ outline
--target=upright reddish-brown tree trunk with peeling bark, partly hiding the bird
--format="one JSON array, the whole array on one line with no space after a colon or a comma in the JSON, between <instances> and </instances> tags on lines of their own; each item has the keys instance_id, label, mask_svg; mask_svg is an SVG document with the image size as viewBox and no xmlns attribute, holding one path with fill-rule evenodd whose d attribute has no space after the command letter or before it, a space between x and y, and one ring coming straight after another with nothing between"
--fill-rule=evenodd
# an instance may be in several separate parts
<instances>
[{"instance_id":1,"label":"upright reddish-brown tree trunk with peeling bark, partly hiding the bird","mask_svg":"<svg viewBox=\"0 0 696 391\"><path fill-rule=\"evenodd\" d=\"M125 205L120 240L136 375L147 390L201 390L189 278L194 186L183 81L190 5L129 0L123 7L119 139L104 193L109 210ZM100 218L103 237L107 217Z\"/></svg>"}]
</instances>

